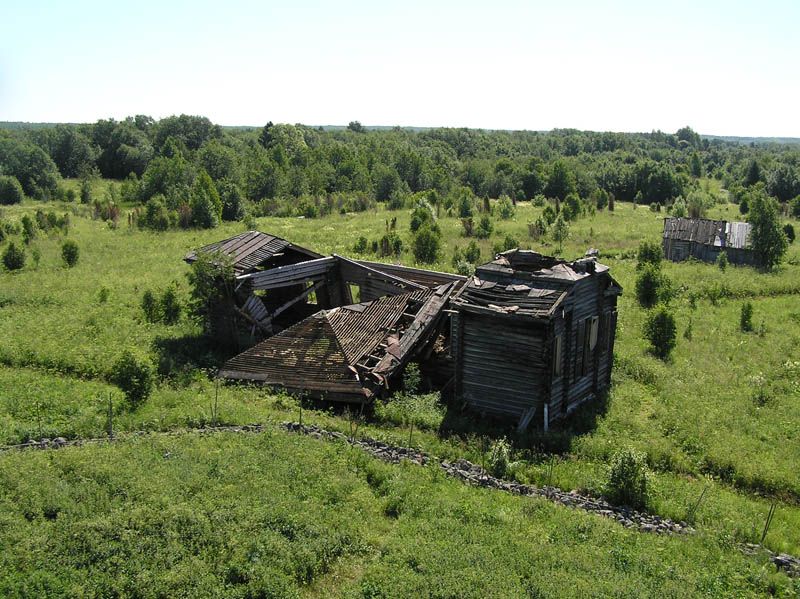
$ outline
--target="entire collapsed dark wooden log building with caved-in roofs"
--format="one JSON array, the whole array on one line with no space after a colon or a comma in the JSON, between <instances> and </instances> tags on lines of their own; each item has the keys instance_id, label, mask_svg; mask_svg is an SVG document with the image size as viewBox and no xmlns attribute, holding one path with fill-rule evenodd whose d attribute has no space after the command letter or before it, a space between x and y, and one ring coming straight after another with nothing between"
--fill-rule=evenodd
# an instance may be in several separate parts
<instances>
[{"instance_id":1,"label":"entire collapsed dark wooden log building with caved-in roofs","mask_svg":"<svg viewBox=\"0 0 800 599\"><path fill-rule=\"evenodd\" d=\"M549 427L610 381L621 289L594 258L511 250L467 278L250 231L185 260L211 252L231 260L231 309L256 341L223 378L368 403L414 361L457 405L523 428Z\"/></svg>"}]
</instances>

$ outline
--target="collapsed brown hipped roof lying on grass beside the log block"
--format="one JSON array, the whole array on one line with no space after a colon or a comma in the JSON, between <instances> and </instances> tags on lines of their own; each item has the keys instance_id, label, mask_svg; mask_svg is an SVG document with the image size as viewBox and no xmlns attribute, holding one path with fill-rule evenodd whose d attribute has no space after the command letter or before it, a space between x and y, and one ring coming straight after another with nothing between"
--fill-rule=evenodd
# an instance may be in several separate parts
<instances>
[{"instance_id":1,"label":"collapsed brown hipped roof lying on grass beside the log block","mask_svg":"<svg viewBox=\"0 0 800 599\"><path fill-rule=\"evenodd\" d=\"M320 312L228 360L220 376L364 402L434 337L455 283Z\"/></svg>"}]
</instances>

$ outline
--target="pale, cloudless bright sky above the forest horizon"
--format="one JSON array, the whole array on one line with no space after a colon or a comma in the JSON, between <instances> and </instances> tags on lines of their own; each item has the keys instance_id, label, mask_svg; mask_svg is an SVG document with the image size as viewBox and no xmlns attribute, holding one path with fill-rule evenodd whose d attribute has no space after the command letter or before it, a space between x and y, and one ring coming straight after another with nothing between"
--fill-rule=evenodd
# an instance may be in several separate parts
<instances>
[{"instance_id":1,"label":"pale, cloudless bright sky above the forest horizon","mask_svg":"<svg viewBox=\"0 0 800 599\"><path fill-rule=\"evenodd\" d=\"M800 137L800 0L5 0L0 21L0 121Z\"/></svg>"}]
</instances>

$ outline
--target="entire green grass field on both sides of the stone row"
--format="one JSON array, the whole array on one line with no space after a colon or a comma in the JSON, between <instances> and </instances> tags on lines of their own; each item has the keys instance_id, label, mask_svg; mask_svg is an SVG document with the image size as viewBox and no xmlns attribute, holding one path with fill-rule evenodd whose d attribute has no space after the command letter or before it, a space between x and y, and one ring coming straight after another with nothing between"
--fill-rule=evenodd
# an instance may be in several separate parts
<instances>
[{"instance_id":1,"label":"entire green grass field on both sides of the stone row","mask_svg":"<svg viewBox=\"0 0 800 599\"><path fill-rule=\"evenodd\" d=\"M36 208L33 203L7 207L1 218L16 221ZM188 267L183 255L244 226L226 223L210 231L155 234L125 224L115 230L81 216L80 207L76 212L68 233L80 246L76 267L65 269L61 263L64 236L40 234L33 242L41 255L38 265L29 251L22 271L0 273L0 444L40 434L102 435L109 394L117 430L169 430L211 422L215 386L198 368L212 369L218 356L185 317L173 326L149 324L139 305L145 289L173 284L185 300ZM480 242L482 258L489 259L491 247L506 235L524 247L552 253L553 245L527 237L527 223L539 212L526 204L517 208L514 219L496 219L491 239ZM713 215L737 218L738 211L721 205ZM379 238L393 217L408 247L408 211L379 209L314 220L261 218L258 227L321 253L353 255L359 236ZM441 583L431 596L473 591L486 596L495 588L497 595L532 596L563 595L564 589L575 596L603 595L622 588L630 588L630 596L662 589L676 596L758 595L770 588L800 592L796 583L792 587L783 575L745 560L733 547L759 540L775 501L765 544L800 555L800 246L791 246L785 263L769 274L733 266L721 272L715 265L694 262L665 264L678 289L673 305L679 342L671 360L663 363L646 351L641 336L645 311L633 297L635 250L642 240L659 239L662 218L646 207L618 203L613 213L598 212L571 224L562 254L575 257L588 247L599 248L626 289L620 300L613 387L603 409L579 413L566 431L511 435L517 448L512 472L523 482L599 491L609 456L633 446L646 452L653 470L652 511L685 518L706 489L695 515L701 530L697 538L628 532L562 508L462 489L424 470L368 465L342 448L287 440L279 433L259 440L173 439L169 442L175 451L165 450L154 438L57 454L0 456L0 576L5 585L0 589L6 591L0 594L25 596L20 589L50 588L46 585L53 594L61 589L65 595L90 596L92 591L85 589L91 588L122 589L123 594L152 588L173 594L197 584L209 595L246 596L247 589L261 584L255 581L266 579L285 585L280 588L320 596L407 595L434 588L434 581ZM467 240L458 219L443 217L440 226L444 250L433 267L452 270L453 249ZM413 263L408 252L401 260ZM753 303L757 332L739 330L745 298ZM690 339L684 336L689 323ZM107 382L109 367L125 349L149 356L165 375L151 398L133 412L124 409L120 392ZM225 423L277 422L297 419L299 404L265 390L226 385L219 389L218 412ZM307 406L303 418L348 429L347 418L330 411ZM362 431L408 442L409 431L391 419L375 418ZM484 435L499 434L511 433L448 411L440 429L414 431L413 443L443 457L480 462L486 452ZM271 449L259 444L271 444ZM164 451L191 458L164 460L159 457ZM361 465L352 460L361 460ZM213 464L219 468L222 462L226 475L211 477ZM287 470L292 464L296 472ZM398 481L396 493L410 506L400 517L382 512L395 491L378 492L359 478L359 469L373 468ZM131 473L129 487L119 482L123 472ZM95 476L100 482L89 485L86 481ZM256 478L263 484L256 484ZM164 481L163 489L156 480ZM200 480L212 481L209 489L197 488ZM115 494L123 487L127 490ZM291 492L278 491L286 488ZM190 489L199 497L197 503ZM326 494L335 499L325 499ZM60 502L59 515L52 520L36 511L42 505L30 508L30 520L20 511L24 506L16 506L15 497L35 503L49 496ZM320 507L326 501L342 509ZM256 542L248 531L266 517L249 511L266 509L263 504L275 504L281 518L341 535L338 541L323 535L325 543L340 547L342 538L348 541L331 556L302 535L297 543L265 537L259 542L277 552L270 554L269 567L259 562L245 577L223 571L224 560L215 561L211 553L224 548L245 563L251 551L245 545ZM203 510L193 509L195 505ZM216 513L230 534L218 530L212 517ZM183 528L202 540L186 538ZM91 530L100 531L109 546L103 541L89 547ZM244 531L247 543L238 545L233 531ZM70 537L73 532L78 537ZM48 535L56 535L59 543L46 542ZM170 548L169 567L159 557L148 557L146 547L153 539ZM70 555L50 563L61 549ZM89 553L81 553L84 549ZM102 563L84 580L80 560L90 559L87 555ZM166 554L155 555L166 559ZM121 573L120 564L130 560L135 567ZM482 566L476 568L476 563ZM48 567L36 579L42 564ZM275 568L284 569L278 575Z\"/></svg>"}]
</instances>

